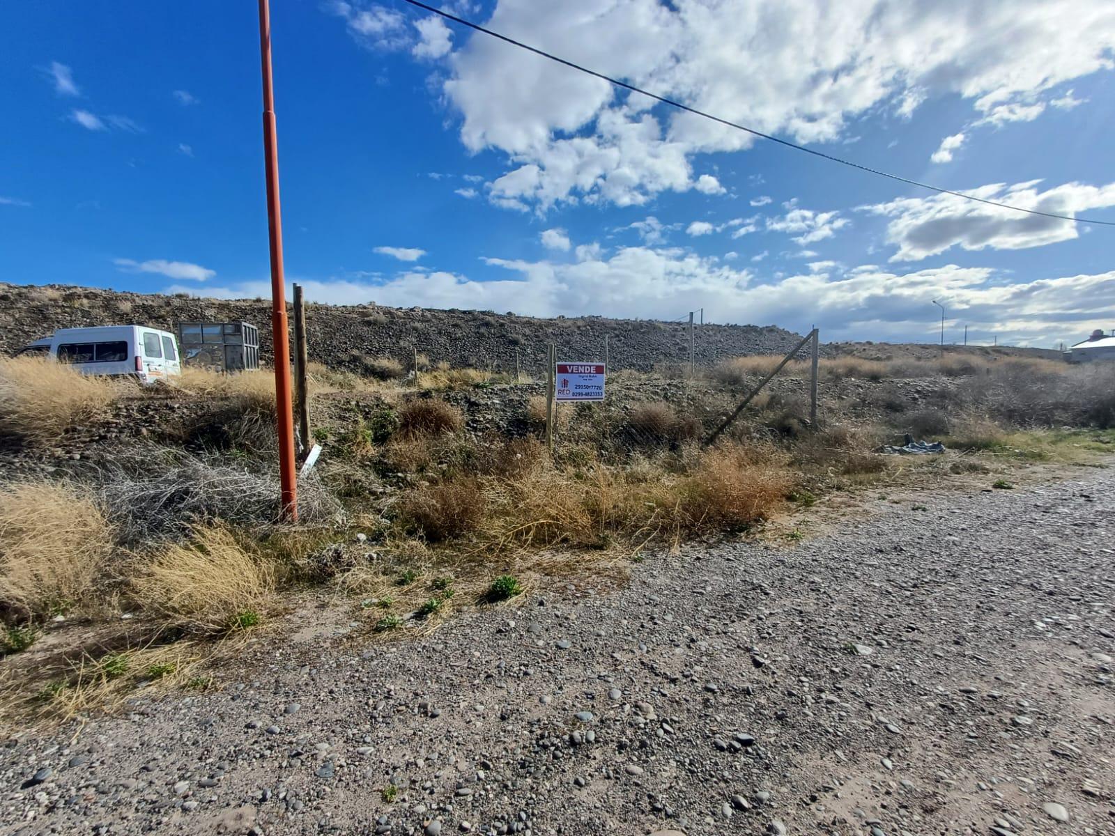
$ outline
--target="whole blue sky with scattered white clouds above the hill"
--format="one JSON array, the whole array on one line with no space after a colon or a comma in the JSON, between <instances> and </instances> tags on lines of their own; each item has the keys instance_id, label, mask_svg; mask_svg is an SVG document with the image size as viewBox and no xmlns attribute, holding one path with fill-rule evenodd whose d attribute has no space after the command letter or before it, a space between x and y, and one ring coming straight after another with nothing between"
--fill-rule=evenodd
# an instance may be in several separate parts
<instances>
[{"instance_id":1,"label":"whole blue sky with scattered white clouds above the hill","mask_svg":"<svg viewBox=\"0 0 1115 836\"><path fill-rule=\"evenodd\" d=\"M1115 221L1107 0L447 6L908 177ZM289 281L336 303L816 322L1048 346L1115 328L1115 229L753 143L405 3L272 9ZM253 3L0 11L0 280L268 293Z\"/></svg>"}]
</instances>

